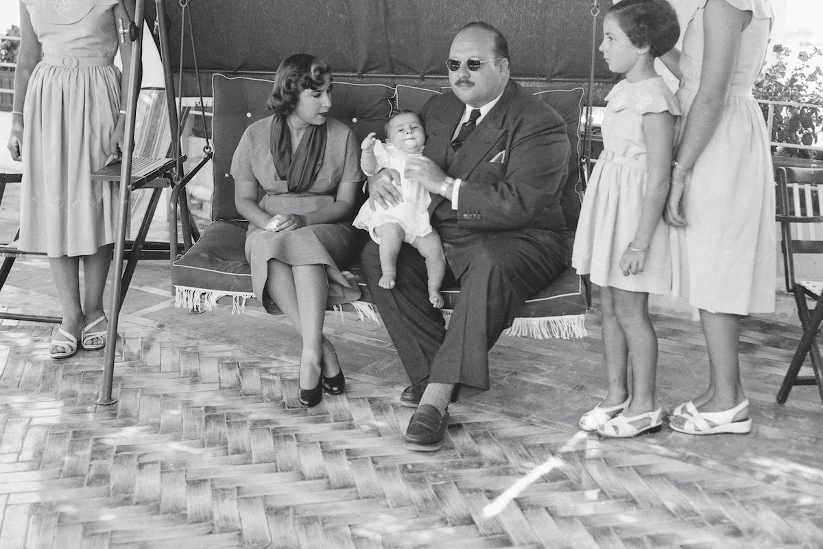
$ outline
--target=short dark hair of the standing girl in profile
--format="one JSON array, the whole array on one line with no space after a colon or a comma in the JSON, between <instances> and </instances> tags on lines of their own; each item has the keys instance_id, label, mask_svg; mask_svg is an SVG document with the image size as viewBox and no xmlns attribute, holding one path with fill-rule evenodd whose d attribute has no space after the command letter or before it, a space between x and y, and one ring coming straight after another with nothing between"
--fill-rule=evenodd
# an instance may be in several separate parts
<instances>
[{"instance_id":1,"label":"short dark hair of the standing girl in profile","mask_svg":"<svg viewBox=\"0 0 823 549\"><path fill-rule=\"evenodd\" d=\"M674 48L680 38L677 12L666 0L621 0L607 15L617 18L621 30L638 48L649 46L652 57Z\"/></svg>"}]
</instances>

